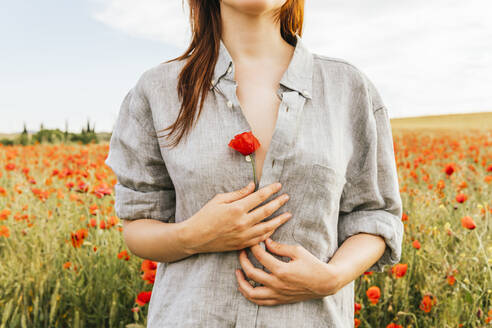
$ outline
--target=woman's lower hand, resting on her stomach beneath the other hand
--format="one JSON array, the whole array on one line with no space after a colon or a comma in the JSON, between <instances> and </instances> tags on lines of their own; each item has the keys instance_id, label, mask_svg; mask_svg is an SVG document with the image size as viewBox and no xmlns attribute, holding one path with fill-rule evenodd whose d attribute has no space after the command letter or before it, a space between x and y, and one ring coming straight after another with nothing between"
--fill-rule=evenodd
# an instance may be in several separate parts
<instances>
[{"instance_id":1,"label":"woman's lower hand, resting on her stomach beneath the other hand","mask_svg":"<svg viewBox=\"0 0 492 328\"><path fill-rule=\"evenodd\" d=\"M253 266L246 251L239 251L239 262L247 278L236 270L239 291L258 305L295 303L307 299L322 298L339 290L335 267L321 262L301 245L288 245L268 238L265 245L274 254L288 256L288 263L275 258L260 245L251 247L251 252L271 273ZM246 279L252 279L263 286L253 287Z\"/></svg>"}]
</instances>

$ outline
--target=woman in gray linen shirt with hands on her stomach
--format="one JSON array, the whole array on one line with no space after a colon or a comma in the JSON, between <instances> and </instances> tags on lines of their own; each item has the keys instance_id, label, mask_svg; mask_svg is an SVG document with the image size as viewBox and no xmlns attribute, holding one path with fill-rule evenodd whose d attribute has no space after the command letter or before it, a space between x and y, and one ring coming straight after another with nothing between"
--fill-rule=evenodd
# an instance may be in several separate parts
<instances>
[{"instance_id":1,"label":"woman in gray linen shirt with hands on her stomach","mask_svg":"<svg viewBox=\"0 0 492 328\"><path fill-rule=\"evenodd\" d=\"M148 327L353 326L354 279L401 256L385 105L305 46L303 1L189 4L190 47L129 91L106 159L126 244L158 262Z\"/></svg>"}]
</instances>

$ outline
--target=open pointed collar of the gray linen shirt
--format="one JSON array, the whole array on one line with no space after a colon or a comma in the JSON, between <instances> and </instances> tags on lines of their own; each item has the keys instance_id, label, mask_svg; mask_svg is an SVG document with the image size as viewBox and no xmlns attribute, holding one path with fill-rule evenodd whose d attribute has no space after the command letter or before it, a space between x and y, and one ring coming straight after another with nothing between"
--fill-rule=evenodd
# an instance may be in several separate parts
<instances>
[{"instance_id":1,"label":"open pointed collar of the gray linen shirt","mask_svg":"<svg viewBox=\"0 0 492 328\"><path fill-rule=\"evenodd\" d=\"M305 98L312 98L313 84L313 55L304 44L302 38L296 34L296 45L294 54L291 58L287 70L280 79L280 84L283 86L298 91ZM214 87L220 79L226 78L234 81L234 63L232 57L220 39L219 57L215 65L212 87Z\"/></svg>"}]
</instances>

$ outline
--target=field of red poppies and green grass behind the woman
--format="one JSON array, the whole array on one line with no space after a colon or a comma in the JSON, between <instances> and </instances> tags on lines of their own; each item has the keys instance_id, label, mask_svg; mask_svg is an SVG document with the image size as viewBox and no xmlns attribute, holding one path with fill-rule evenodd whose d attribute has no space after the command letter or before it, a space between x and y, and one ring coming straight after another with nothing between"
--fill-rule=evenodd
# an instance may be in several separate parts
<instances>
[{"instance_id":1,"label":"field of red poppies and green grass behind the woman","mask_svg":"<svg viewBox=\"0 0 492 328\"><path fill-rule=\"evenodd\" d=\"M400 263L355 282L355 327L492 327L492 131L393 132ZM145 327L156 263L114 213L109 145L0 146L0 328Z\"/></svg>"}]
</instances>

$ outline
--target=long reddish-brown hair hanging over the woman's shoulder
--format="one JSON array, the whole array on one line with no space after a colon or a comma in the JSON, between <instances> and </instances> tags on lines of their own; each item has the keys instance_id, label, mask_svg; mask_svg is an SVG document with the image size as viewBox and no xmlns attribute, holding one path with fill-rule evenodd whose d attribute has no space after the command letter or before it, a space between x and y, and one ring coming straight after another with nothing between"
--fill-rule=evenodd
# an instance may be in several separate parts
<instances>
[{"instance_id":1,"label":"long reddish-brown hair hanging over the woman's shoulder","mask_svg":"<svg viewBox=\"0 0 492 328\"><path fill-rule=\"evenodd\" d=\"M171 147L176 146L189 133L197 105L200 106L198 116L201 114L204 99L211 88L222 35L219 0L188 0L188 3L191 43L181 56L166 61L186 60L178 77L177 91L181 100L178 117L173 124L158 131L171 130L166 135L159 136L171 139L168 144ZM295 45L296 34L302 36L303 18L304 0L287 0L274 14L275 23L280 20L282 38L291 45Z\"/></svg>"}]
</instances>

